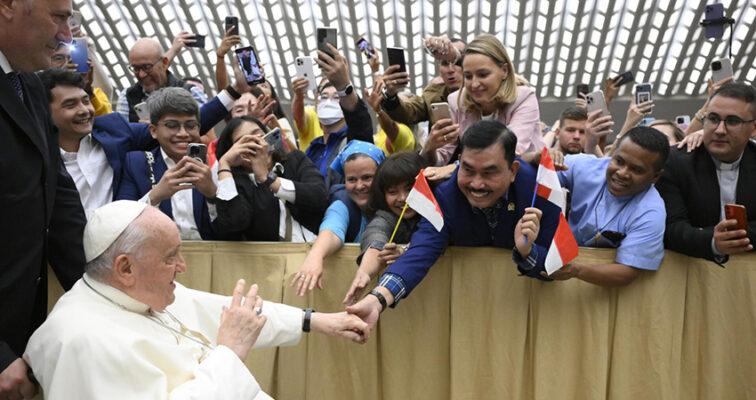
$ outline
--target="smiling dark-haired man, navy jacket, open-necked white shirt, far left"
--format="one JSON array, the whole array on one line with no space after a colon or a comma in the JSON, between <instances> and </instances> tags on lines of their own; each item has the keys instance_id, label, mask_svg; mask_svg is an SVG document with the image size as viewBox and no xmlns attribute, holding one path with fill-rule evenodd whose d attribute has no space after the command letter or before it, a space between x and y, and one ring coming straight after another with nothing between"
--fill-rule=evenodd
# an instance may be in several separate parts
<instances>
[{"instance_id":1,"label":"smiling dark-haired man, navy jacket, open-necked white shirt, far left","mask_svg":"<svg viewBox=\"0 0 756 400\"><path fill-rule=\"evenodd\" d=\"M50 69L41 72L39 77L47 90L53 122L60 132L61 158L89 218L94 210L115 199L126 153L152 150L158 143L150 133L149 124L130 123L118 113L95 118L81 75L65 69ZM243 82L239 90L246 88ZM205 103L200 112L200 134L223 119L233 102L230 91L223 91Z\"/></svg>"}]
</instances>

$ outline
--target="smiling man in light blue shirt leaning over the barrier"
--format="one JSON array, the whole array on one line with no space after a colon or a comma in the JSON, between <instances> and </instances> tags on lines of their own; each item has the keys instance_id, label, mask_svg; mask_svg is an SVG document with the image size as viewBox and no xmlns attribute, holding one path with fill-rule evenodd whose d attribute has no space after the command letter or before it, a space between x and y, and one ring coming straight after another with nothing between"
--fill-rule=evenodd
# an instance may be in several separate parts
<instances>
[{"instance_id":1,"label":"smiling man in light blue shirt leaning over the barrier","mask_svg":"<svg viewBox=\"0 0 756 400\"><path fill-rule=\"evenodd\" d=\"M655 271L664 257L664 201L653 184L662 174L669 141L653 128L636 127L618 139L611 158L576 154L559 181L572 193L567 221L579 246L617 249L611 264L572 262L549 278L578 278L622 286L640 270ZM545 276L545 273L543 273Z\"/></svg>"}]
</instances>

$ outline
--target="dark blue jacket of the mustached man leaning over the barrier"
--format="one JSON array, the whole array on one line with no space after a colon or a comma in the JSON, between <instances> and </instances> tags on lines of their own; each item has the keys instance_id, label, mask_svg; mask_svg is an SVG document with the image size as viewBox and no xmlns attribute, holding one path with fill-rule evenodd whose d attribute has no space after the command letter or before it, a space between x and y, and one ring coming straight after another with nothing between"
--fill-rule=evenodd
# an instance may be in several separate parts
<instances>
[{"instance_id":1,"label":"dark blue jacket of the mustached man leaning over the barrier","mask_svg":"<svg viewBox=\"0 0 756 400\"><path fill-rule=\"evenodd\" d=\"M491 231L483 214L473 212L467 198L459 190L459 168L451 178L436 188L436 201L444 214L444 227L441 232L436 231L427 219L422 218L417 225L417 231L412 235L407 252L386 270L387 274L398 275L404 280L407 294L420 283L449 245L514 248L514 228L525 214L525 208L530 207L536 180L535 168L522 160L518 161L520 169L504 197L506 203L501 209L495 231ZM540 272L544 270L546 252L559 225L560 210L541 197L536 198L534 206L541 209L543 215L538 238L533 244L534 250L538 253L537 264L527 275L542 279ZM504 262L505 265L508 263L509 260Z\"/></svg>"}]
</instances>

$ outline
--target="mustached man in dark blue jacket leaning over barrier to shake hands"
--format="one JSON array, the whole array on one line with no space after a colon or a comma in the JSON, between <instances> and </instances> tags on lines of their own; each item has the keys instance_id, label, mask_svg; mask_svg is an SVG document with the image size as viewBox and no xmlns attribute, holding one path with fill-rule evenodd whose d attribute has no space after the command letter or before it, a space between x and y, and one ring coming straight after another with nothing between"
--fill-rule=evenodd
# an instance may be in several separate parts
<instances>
[{"instance_id":1,"label":"mustached man in dark blue jacket leaning over barrier to shake hands","mask_svg":"<svg viewBox=\"0 0 756 400\"><path fill-rule=\"evenodd\" d=\"M459 167L435 191L444 215L441 232L421 219L407 252L368 296L347 307L371 327L386 306L394 306L420 283L449 245L513 249L521 273L545 279L539 273L560 210L541 197L530 207L536 170L515 159L517 137L500 121L483 120L468 128L460 145Z\"/></svg>"}]
</instances>

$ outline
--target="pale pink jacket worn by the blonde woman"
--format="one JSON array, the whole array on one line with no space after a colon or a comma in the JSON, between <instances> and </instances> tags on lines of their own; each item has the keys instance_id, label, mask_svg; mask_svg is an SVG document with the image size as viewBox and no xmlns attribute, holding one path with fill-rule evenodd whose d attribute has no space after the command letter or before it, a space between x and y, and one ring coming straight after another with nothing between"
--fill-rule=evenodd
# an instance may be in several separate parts
<instances>
[{"instance_id":1,"label":"pale pink jacket worn by the blonde woman","mask_svg":"<svg viewBox=\"0 0 756 400\"><path fill-rule=\"evenodd\" d=\"M448 102L452 118L459 124L459 135L462 137L470 125L480 120L480 113L477 111L460 111L457 107L459 93L460 91L457 90L450 94ZM544 143L539 124L541 116L538 110L538 99L536 99L533 88L518 86L517 99L514 103L507 104L504 108L499 109L497 118L517 135L515 154L518 157L524 153L543 149ZM436 165L448 164L458 144L459 139L436 150Z\"/></svg>"}]
</instances>

